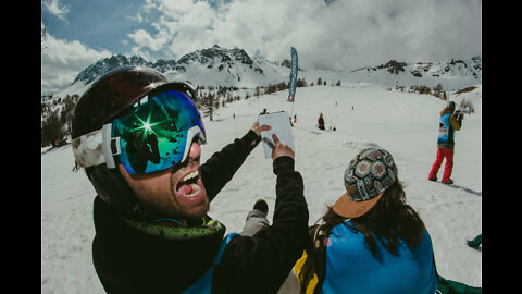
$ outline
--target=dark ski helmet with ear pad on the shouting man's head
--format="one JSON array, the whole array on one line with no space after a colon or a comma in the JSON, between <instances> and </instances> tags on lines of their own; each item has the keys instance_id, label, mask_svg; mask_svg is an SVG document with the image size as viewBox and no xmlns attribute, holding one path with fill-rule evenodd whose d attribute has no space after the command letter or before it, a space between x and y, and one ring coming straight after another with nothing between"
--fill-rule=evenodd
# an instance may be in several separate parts
<instances>
[{"instance_id":1,"label":"dark ski helmet with ear pad on the shouting man's head","mask_svg":"<svg viewBox=\"0 0 522 294\"><path fill-rule=\"evenodd\" d=\"M196 99L194 89L184 83L169 82L160 72L142 66L123 66L100 76L79 98L72 119L72 139L102 128L103 124L129 113L132 106L160 89L175 89ZM120 215L148 220L149 213L138 205L133 189L105 163L85 168L98 195Z\"/></svg>"}]
</instances>

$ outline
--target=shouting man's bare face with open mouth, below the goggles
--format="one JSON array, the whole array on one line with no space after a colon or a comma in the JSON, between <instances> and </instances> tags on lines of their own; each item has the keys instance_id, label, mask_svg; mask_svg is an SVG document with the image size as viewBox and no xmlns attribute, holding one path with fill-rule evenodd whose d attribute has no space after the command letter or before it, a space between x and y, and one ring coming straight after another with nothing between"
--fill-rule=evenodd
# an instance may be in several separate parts
<instances>
[{"instance_id":1,"label":"shouting man's bare face with open mouth, below the goggles","mask_svg":"<svg viewBox=\"0 0 522 294\"><path fill-rule=\"evenodd\" d=\"M187 159L167 170L130 175L121 163L119 169L139 204L159 218L201 218L210 205L199 174L200 156L201 147L192 143Z\"/></svg>"}]
</instances>

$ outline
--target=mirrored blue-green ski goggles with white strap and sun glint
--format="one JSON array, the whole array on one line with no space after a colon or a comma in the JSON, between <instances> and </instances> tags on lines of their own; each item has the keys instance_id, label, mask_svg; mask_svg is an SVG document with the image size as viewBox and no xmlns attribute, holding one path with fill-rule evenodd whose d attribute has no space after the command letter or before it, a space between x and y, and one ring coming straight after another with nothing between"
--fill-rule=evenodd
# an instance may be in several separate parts
<instances>
[{"instance_id":1,"label":"mirrored blue-green ski goggles with white strap and sun glint","mask_svg":"<svg viewBox=\"0 0 522 294\"><path fill-rule=\"evenodd\" d=\"M194 140L206 143L201 115L184 93L166 90L145 97L132 113L73 140L73 152L82 167L107 163L114 157L129 174L162 171L188 157Z\"/></svg>"}]
</instances>

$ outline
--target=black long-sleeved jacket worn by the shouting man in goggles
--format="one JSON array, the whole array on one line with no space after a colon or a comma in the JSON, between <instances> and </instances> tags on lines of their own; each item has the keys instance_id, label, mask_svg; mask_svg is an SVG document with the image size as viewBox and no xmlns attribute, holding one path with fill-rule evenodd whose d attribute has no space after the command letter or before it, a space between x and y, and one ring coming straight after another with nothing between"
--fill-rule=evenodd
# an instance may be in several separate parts
<instances>
[{"instance_id":1,"label":"black long-sleeved jacket worn by the shouting man in goggles","mask_svg":"<svg viewBox=\"0 0 522 294\"><path fill-rule=\"evenodd\" d=\"M252 142L259 144L259 136L249 131L201 164L210 200L243 164L253 149ZM276 293L301 256L309 215L302 177L294 163L290 157L273 162L277 176L273 224L252 237L237 236L228 243L213 271L212 293ZM211 234L176 240L147 234L129 225L99 196L94 219L92 259L108 293L183 292L210 268L226 230L222 225ZM189 220L196 228L201 222Z\"/></svg>"}]
</instances>

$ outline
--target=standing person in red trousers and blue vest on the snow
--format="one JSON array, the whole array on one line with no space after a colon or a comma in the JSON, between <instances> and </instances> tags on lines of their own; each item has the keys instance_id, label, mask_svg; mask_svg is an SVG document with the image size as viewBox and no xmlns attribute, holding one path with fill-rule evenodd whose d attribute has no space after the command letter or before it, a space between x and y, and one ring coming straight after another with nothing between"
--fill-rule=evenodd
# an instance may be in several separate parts
<instances>
[{"instance_id":1,"label":"standing person in red trousers and blue vest on the snow","mask_svg":"<svg viewBox=\"0 0 522 294\"><path fill-rule=\"evenodd\" d=\"M438 124L438 139L437 139L437 158L432 166L432 171L427 180L437 181L438 169L443 164L443 160L446 158L446 166L444 168L443 184L452 184L450 179L453 170L453 134L455 131L459 131L462 126L463 115L456 115L455 102L448 102L448 106L440 111L440 122Z\"/></svg>"}]
</instances>

